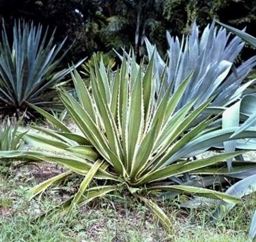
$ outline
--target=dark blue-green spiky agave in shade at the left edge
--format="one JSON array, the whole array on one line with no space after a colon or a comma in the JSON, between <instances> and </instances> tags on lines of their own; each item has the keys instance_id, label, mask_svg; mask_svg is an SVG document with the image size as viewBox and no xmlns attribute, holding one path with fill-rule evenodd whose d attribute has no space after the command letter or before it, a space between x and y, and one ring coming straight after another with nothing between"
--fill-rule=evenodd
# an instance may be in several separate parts
<instances>
[{"instance_id":1,"label":"dark blue-green spiky agave in shade at the left edge","mask_svg":"<svg viewBox=\"0 0 256 242\"><path fill-rule=\"evenodd\" d=\"M54 44L54 32L48 37L48 29L43 33L42 25L18 21L13 28L11 45L3 24L0 42L1 113L20 115L27 109L28 112L32 110L28 104L46 110L59 107L59 102L53 102L57 96L54 87L70 73L69 68L57 69L66 55L63 52L58 57L64 42Z\"/></svg>"}]
</instances>

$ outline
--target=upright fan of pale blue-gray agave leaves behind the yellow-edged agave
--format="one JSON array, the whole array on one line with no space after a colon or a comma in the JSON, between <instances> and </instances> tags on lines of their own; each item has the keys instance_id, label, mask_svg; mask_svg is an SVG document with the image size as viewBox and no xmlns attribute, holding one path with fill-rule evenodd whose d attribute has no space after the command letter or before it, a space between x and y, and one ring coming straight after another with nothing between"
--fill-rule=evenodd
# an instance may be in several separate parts
<instances>
[{"instance_id":1,"label":"upright fan of pale blue-gray agave leaves behind the yellow-edged agave","mask_svg":"<svg viewBox=\"0 0 256 242\"><path fill-rule=\"evenodd\" d=\"M151 56L154 45L148 40L145 42L147 53ZM217 29L214 22L203 29L200 37L199 28L194 22L190 35L184 36L181 42L167 32L167 42L169 44L167 60L163 60L158 52L154 55L155 70L158 73L157 87L161 85L160 74L165 68L167 74L162 83L165 88L162 90L171 87L171 95L182 80L194 71L178 108L196 97L197 102L194 106L197 107L212 96L215 98L210 106L228 106L238 100L246 87L253 82L252 80L242 84L250 70L255 67L256 57L235 67L233 63L238 58L244 43L240 37L231 38L225 29Z\"/></svg>"}]
</instances>

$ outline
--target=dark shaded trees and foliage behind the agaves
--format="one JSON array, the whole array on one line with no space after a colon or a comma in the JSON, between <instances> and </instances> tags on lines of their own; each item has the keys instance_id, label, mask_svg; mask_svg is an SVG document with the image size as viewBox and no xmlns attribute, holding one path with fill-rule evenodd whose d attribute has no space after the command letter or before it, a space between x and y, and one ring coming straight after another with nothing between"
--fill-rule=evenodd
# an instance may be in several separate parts
<instances>
[{"instance_id":1,"label":"dark shaded trees and foliage behind the agaves","mask_svg":"<svg viewBox=\"0 0 256 242\"><path fill-rule=\"evenodd\" d=\"M10 29L14 19L25 18L57 27L57 40L68 35L73 43L67 59L77 61L94 51L110 52L122 46L134 46L143 55L144 37L167 48L165 30L172 34L188 33L197 18L205 27L215 18L256 35L256 1L245 0L0 0L0 17ZM165 51L164 51L165 52ZM248 52L248 50L247 50ZM251 52L251 50L250 50Z\"/></svg>"}]
</instances>

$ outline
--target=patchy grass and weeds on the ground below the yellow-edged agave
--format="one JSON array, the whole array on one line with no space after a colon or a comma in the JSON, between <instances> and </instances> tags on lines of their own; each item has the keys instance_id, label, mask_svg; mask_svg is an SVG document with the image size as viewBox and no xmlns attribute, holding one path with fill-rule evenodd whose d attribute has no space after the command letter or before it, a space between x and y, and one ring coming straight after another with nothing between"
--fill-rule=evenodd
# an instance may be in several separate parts
<instances>
[{"instance_id":1,"label":"patchy grass and weeds on the ground below the yellow-edged agave","mask_svg":"<svg viewBox=\"0 0 256 242\"><path fill-rule=\"evenodd\" d=\"M179 200L165 201L165 212L173 227L166 232L146 207L119 194L101 198L68 215L55 213L42 220L35 217L52 209L76 192L79 177L66 181L39 198L28 201L26 190L56 175L57 166L0 167L0 241L248 241L256 197L246 199L218 224L208 223L210 211L180 209Z\"/></svg>"}]
</instances>

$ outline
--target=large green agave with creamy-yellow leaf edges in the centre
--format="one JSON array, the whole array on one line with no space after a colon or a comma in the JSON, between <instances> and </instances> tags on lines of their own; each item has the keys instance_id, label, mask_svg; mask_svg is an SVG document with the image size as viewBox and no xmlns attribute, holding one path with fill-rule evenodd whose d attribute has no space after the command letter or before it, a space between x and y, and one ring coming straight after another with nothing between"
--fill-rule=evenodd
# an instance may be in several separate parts
<instances>
[{"instance_id":1,"label":"large green agave with creamy-yellow leaf edges in the centre","mask_svg":"<svg viewBox=\"0 0 256 242\"><path fill-rule=\"evenodd\" d=\"M182 181L188 172L194 175L204 172L215 174L220 166L221 172L227 172L223 161L240 153L221 153L195 161L190 160L190 157L205 151L214 142L228 140L236 129L208 130L214 118L205 119L193 127L193 122L211 100L203 102L194 110L192 107L197 99L190 100L174 112L192 75L180 83L171 99L171 87L167 88L162 98L160 95L155 98L154 58L145 70L142 64L139 67L136 65L134 58L130 60L132 63L123 61L115 73L106 70L103 63L100 66L96 63L95 71L91 70L90 74L91 93L78 72L74 71L72 78L78 101L67 91L60 90L61 101L79 127L79 134L71 132L53 115L33 106L61 131L35 126L35 130L40 133L30 131L25 136L26 140L44 151L10 151L1 152L0 155L57 163L70 170L33 187L29 191L31 197L76 172L84 176L79 192L64 202L62 208L85 205L94 198L125 187L133 196L145 202L166 228L171 226L171 222L160 207L152 202L150 194L173 191L239 202L240 199L235 196L177 182ZM256 129L246 130L237 138L244 136L256 136ZM255 166L253 162L236 164L239 166L235 166L234 172ZM106 182L96 186L91 181L97 179Z\"/></svg>"}]
</instances>

